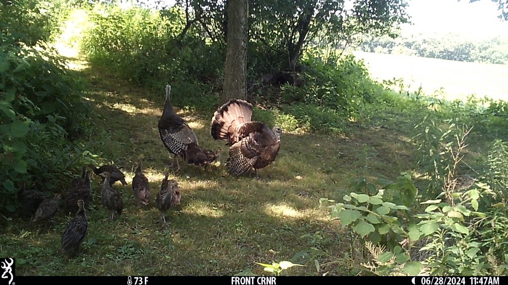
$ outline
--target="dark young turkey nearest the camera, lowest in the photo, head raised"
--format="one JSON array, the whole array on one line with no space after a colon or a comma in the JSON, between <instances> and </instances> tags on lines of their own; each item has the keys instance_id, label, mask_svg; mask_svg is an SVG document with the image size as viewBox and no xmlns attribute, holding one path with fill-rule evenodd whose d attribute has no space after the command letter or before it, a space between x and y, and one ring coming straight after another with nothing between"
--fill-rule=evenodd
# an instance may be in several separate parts
<instances>
[{"instance_id":1,"label":"dark young turkey nearest the camera, lowest in the photo, head raised","mask_svg":"<svg viewBox=\"0 0 508 285\"><path fill-rule=\"evenodd\" d=\"M79 246L86 236L88 222L86 221L85 203L78 200L78 211L76 216L67 224L61 239L61 248L64 255L68 258L73 257L79 250Z\"/></svg>"}]
</instances>

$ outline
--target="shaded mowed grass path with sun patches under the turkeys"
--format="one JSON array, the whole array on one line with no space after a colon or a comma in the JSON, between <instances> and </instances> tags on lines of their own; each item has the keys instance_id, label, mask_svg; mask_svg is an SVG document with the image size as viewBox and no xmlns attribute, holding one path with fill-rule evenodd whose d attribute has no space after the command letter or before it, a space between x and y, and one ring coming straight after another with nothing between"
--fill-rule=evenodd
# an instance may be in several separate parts
<instances>
[{"instance_id":1,"label":"shaded mowed grass path with sun patches under the turkeys","mask_svg":"<svg viewBox=\"0 0 508 285\"><path fill-rule=\"evenodd\" d=\"M61 255L60 238L72 216L59 211L48 232L39 232L26 219L2 217L1 256L17 259L17 275L232 275L245 268L269 274L255 262L290 260L311 246L327 253L320 257L321 264L340 261L362 246L351 246L351 235L330 220L319 199L341 199L348 183L359 175L380 173L395 179L408 167L410 148L403 133L351 125L344 135L284 133L276 161L259 171L259 181L254 175L233 177L225 170L225 142L214 141L209 134L212 114L184 112L177 105L202 147L224 151L206 170L181 162L182 170L171 172L170 179L180 184L182 201L167 211L170 225L163 228L155 195L173 158L157 131L166 82L160 92L148 94L96 69L81 73L93 86L86 95L94 110L90 120L96 124L90 151L128 176L128 186L114 185L125 208L114 221L107 219L109 211L100 202L101 180L93 175L88 235L81 254L70 262ZM369 155L362 156L365 152ZM138 159L152 191L146 207L136 205L132 190ZM302 237L316 232L323 238ZM344 259L319 271L309 263L291 268L289 274L326 272L355 273Z\"/></svg>"}]
</instances>

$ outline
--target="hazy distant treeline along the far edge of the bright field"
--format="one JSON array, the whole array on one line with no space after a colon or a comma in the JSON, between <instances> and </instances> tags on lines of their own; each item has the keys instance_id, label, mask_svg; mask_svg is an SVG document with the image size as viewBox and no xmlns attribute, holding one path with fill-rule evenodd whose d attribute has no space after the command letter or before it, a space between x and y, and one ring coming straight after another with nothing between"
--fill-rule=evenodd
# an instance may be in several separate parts
<instances>
[{"instance_id":1,"label":"hazy distant treeline along the far edge of the bright field","mask_svg":"<svg viewBox=\"0 0 508 285\"><path fill-rule=\"evenodd\" d=\"M370 37L359 46L366 52L416 55L440 59L508 63L508 39L492 38L483 41L468 41L457 35L442 38L426 38L422 35L392 39Z\"/></svg>"}]
</instances>

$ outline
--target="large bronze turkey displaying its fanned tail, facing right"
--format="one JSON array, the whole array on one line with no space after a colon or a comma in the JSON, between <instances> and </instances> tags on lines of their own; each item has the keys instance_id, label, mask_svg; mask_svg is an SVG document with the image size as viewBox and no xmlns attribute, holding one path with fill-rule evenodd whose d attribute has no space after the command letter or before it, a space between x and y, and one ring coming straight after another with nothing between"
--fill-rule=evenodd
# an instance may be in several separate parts
<instances>
[{"instance_id":1,"label":"large bronze turkey displaying its fanned tail, facing right","mask_svg":"<svg viewBox=\"0 0 508 285\"><path fill-rule=\"evenodd\" d=\"M240 175L253 168L259 179L257 169L268 166L277 156L282 130L252 122L251 117L252 104L232 99L214 113L210 133L230 145L226 162L229 173Z\"/></svg>"}]
</instances>

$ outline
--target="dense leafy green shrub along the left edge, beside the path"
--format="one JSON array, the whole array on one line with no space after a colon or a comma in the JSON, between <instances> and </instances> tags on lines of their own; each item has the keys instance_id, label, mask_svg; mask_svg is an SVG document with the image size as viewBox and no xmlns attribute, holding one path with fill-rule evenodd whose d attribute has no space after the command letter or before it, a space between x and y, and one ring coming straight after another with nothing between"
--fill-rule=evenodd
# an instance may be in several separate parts
<instances>
[{"instance_id":1,"label":"dense leafy green shrub along the left edge, beside the path","mask_svg":"<svg viewBox=\"0 0 508 285\"><path fill-rule=\"evenodd\" d=\"M40 8L27 5L26 17ZM9 14L9 17L17 13ZM27 16L28 15L28 16ZM88 134L90 107L81 98L82 82L65 61L42 41L42 30L25 34L26 25L45 27L40 18L19 22L2 18L0 27L0 210L14 211L16 191L27 188L54 192L63 179L90 157L81 143ZM19 25L19 26L18 26ZM8 28L5 28L8 26ZM40 32L37 37L36 32ZM35 43L37 45L29 45Z\"/></svg>"}]
</instances>

